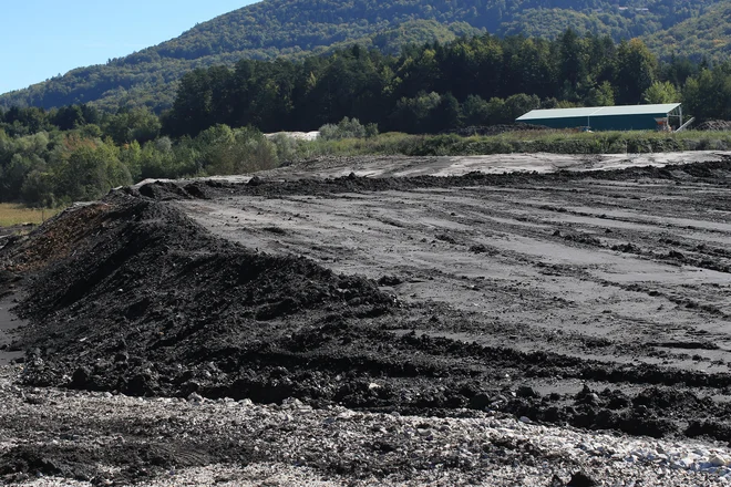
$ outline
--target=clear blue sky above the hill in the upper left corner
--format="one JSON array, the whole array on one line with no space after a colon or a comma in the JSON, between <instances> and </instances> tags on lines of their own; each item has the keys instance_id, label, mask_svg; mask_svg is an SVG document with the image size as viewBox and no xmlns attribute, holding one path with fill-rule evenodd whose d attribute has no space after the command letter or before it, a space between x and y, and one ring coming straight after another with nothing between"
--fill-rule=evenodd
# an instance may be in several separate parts
<instances>
[{"instance_id":1,"label":"clear blue sky above the hill in the upper left corner","mask_svg":"<svg viewBox=\"0 0 731 487\"><path fill-rule=\"evenodd\" d=\"M173 39L255 0L4 0L0 93Z\"/></svg>"}]
</instances>

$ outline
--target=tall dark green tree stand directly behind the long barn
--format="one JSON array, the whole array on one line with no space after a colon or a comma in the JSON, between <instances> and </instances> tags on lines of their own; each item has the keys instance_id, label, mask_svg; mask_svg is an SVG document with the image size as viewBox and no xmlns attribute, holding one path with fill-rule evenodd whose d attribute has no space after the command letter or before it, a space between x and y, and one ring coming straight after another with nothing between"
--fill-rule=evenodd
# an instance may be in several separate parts
<instances>
[{"instance_id":1,"label":"tall dark green tree stand directly behind the long barn","mask_svg":"<svg viewBox=\"0 0 731 487\"><path fill-rule=\"evenodd\" d=\"M354 45L299 62L194 70L162 124L182 136L215 124L311 131L349 116L381 131L435 133L512 123L533 108L681 100L702 121L731 117L730 73L729 63L661 63L638 39L615 43L570 29L555 40L484 34L399 55Z\"/></svg>"}]
</instances>

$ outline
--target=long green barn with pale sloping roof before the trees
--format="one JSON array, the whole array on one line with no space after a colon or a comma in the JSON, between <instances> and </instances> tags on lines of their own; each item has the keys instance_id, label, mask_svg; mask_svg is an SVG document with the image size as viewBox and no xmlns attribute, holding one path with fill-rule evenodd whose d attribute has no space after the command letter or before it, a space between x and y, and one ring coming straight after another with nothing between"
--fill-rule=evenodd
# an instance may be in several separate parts
<instances>
[{"instance_id":1,"label":"long green barn with pale sloping roof before the trees","mask_svg":"<svg viewBox=\"0 0 731 487\"><path fill-rule=\"evenodd\" d=\"M515 122L552 128L591 131L670 131L682 125L680 103L533 110Z\"/></svg>"}]
</instances>

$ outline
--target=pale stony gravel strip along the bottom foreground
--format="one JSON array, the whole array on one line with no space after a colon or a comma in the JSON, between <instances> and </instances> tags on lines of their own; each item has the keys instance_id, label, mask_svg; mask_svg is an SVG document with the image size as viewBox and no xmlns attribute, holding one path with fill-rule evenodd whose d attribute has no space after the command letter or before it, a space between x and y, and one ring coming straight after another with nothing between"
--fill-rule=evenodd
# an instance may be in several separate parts
<instances>
[{"instance_id":1,"label":"pale stony gravel strip along the bottom foreground","mask_svg":"<svg viewBox=\"0 0 731 487\"><path fill-rule=\"evenodd\" d=\"M186 438L226 438L257 459L187 468L159 462L136 473L140 485L687 487L731 480L731 449L702 442L587 433L491 413L437 418L339 406L313 410L297 400L255 405L195 394L141 398L19 387L13 382L21 373L20 366L0 369L0 455L38 444L63 446L75 455L37 459L31 476L3 472L8 485L124 485L131 481L124 458L106 457L93 475L76 470L78 478L86 479L59 478L51 470L69 474L73 459L90 448ZM32 424L32 431L22 424Z\"/></svg>"}]
</instances>

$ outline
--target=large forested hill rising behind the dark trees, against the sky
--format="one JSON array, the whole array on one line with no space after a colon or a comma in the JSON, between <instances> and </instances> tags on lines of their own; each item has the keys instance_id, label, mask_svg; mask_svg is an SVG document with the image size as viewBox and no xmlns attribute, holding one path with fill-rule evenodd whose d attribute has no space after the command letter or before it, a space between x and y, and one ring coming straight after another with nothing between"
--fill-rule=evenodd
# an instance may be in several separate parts
<instances>
[{"instance_id":1,"label":"large forested hill rising behind the dark trees, against the sky","mask_svg":"<svg viewBox=\"0 0 731 487\"><path fill-rule=\"evenodd\" d=\"M444 42L481 30L549 39L568 27L615 40L653 35L659 52L717 58L728 48L692 39L668 46L662 32L702 19L722 32L729 17L709 17L719 4L728 0L265 0L126 58L0 95L0 106L91 103L161 111L172 106L177 80L195 68L300 58L354 42L394 52L404 43Z\"/></svg>"}]
</instances>

